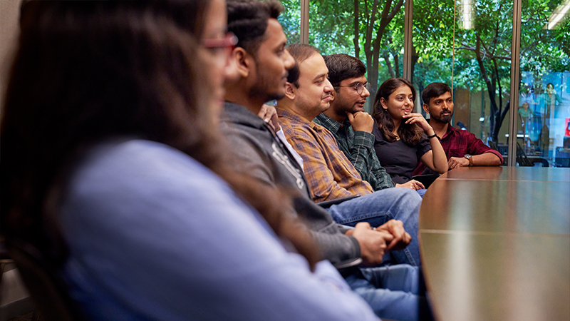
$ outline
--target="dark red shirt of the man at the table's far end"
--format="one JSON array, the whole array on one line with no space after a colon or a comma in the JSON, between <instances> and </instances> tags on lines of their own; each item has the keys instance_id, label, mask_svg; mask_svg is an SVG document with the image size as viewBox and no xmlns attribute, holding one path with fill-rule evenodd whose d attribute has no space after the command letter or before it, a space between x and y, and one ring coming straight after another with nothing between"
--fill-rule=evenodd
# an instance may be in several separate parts
<instances>
[{"instance_id":1,"label":"dark red shirt of the man at the table's far end","mask_svg":"<svg viewBox=\"0 0 570 321\"><path fill-rule=\"evenodd\" d=\"M485 145L474 134L454 128L451 124L447 126L447 131L440 138L440 142L448 161L452 157L463 157L465 154L481 155L482 153L494 153L501 158L501 163L504 161L501 153ZM423 173L425 168L427 166L424 163L418 163L418 167L415 168L413 175Z\"/></svg>"}]
</instances>

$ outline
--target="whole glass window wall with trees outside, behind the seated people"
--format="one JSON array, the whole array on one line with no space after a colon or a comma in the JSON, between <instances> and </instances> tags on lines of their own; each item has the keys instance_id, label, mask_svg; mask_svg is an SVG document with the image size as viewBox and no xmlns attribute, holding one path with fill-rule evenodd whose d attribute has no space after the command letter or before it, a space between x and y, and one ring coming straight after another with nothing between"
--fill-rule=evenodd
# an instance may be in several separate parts
<instances>
[{"instance_id":1,"label":"whole glass window wall with trees outside, behind the seated people","mask_svg":"<svg viewBox=\"0 0 570 321\"><path fill-rule=\"evenodd\" d=\"M427 84L447 83L454 91L453 126L507 156L509 113L516 111L517 164L568 167L570 0L522 0L518 106L511 106L509 92L513 1L413 1L416 108ZM289 43L299 42L300 0L282 2L279 20ZM369 103L386 78L403 76L404 0L307 3L309 44L322 54L361 58L372 84Z\"/></svg>"}]
</instances>

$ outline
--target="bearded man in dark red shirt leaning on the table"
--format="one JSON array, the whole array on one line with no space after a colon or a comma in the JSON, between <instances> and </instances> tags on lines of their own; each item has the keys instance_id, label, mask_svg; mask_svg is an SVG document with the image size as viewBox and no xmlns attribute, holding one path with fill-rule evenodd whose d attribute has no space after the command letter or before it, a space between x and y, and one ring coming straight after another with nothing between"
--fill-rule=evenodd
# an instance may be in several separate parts
<instances>
[{"instance_id":1,"label":"bearded man in dark red shirt leaning on the table","mask_svg":"<svg viewBox=\"0 0 570 321\"><path fill-rule=\"evenodd\" d=\"M451 126L453 99L451 88L445 83L430 83L422 91L423 110L430 114L430 126L440 137L447 155L449 168L460 166L498 166L503 163L501 153L485 145L468 131ZM414 175L435 173L419 163Z\"/></svg>"}]
</instances>

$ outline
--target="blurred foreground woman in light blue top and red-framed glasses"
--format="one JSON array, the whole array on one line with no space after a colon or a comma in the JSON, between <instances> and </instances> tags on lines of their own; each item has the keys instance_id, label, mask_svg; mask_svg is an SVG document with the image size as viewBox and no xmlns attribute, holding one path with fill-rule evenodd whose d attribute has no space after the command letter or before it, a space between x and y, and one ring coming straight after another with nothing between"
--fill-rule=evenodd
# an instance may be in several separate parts
<instances>
[{"instance_id":1,"label":"blurred foreground woman in light blue top and red-framed glasses","mask_svg":"<svg viewBox=\"0 0 570 321\"><path fill-rule=\"evenodd\" d=\"M87 320L377 320L315 262L289 200L225 165L213 129L234 44L225 12L222 0L26 2L2 113L1 233L61 271Z\"/></svg>"}]
</instances>

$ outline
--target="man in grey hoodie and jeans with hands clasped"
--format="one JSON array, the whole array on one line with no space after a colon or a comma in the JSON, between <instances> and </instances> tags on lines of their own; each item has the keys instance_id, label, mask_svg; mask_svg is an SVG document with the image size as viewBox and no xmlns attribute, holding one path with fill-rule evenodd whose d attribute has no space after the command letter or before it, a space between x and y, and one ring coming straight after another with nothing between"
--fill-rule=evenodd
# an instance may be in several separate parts
<instances>
[{"instance_id":1,"label":"man in grey hoodie and jeans with hands clasped","mask_svg":"<svg viewBox=\"0 0 570 321\"><path fill-rule=\"evenodd\" d=\"M349 230L333 222L331 215L316 205L299 163L276 138L274 128L257 116L264 102L284 96L287 71L294 59L286 51L286 37L276 17L282 6L274 1L230 0L228 29L239 42L232 51L238 77L226 83L222 129L232 143L232 164L242 173L254 176L267 188L282 188L296 195L291 214L303 218L311 228L321 258L341 268L352 289L361 295L377 315L418 320L430 315L420 287L420 271L410 265L392 265L359 269L358 263L375 266L387 250L403 248L410 242L403 225L415 222L417 238L419 196L410 190L400 194L400 202L383 205L378 195L369 194L333 205L332 211L352 217L372 217L383 222L371 229L358 223ZM407 190L403 190L407 191ZM397 217L405 221L390 220ZM356 220L353 222L356 223ZM374 225L374 224L373 224ZM416 242L417 243L417 242ZM398 262L419 263L417 245L399 253ZM412 255L411 253L415 253ZM396 256L396 255L395 255Z\"/></svg>"}]
</instances>

